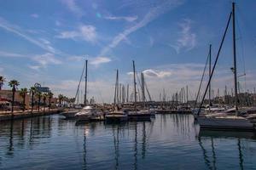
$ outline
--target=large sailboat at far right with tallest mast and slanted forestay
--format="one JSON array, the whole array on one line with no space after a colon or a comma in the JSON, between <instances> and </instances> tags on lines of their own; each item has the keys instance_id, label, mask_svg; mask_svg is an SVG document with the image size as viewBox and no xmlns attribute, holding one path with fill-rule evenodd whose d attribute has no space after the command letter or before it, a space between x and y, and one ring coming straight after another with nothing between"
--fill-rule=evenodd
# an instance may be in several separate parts
<instances>
[{"instance_id":1,"label":"large sailboat at far right with tallest mast and slanted forestay","mask_svg":"<svg viewBox=\"0 0 256 170\"><path fill-rule=\"evenodd\" d=\"M229 114L232 113L230 112L219 112L219 113L213 113L213 114L207 114L205 116L200 116L201 112L201 107L197 113L198 117L198 123L200 124L201 128L204 129L214 129L214 130L242 130L242 131L254 131L255 127L253 125L253 122L250 122L248 119L246 119L243 116L239 116L239 111L238 111L238 105L237 105L237 76L236 76L236 25L235 25L235 3L232 3L232 12L230 13L230 17L226 26L226 29L224 31L224 37L226 35L226 32L228 30L228 27L230 25L230 20L232 18L233 22L233 53L234 53L234 67L231 68L231 70L234 73L234 83L235 83L235 110L233 111L234 114ZM212 68L211 76L209 78L209 81L207 83L207 88L209 88L211 79L212 79L212 74L215 69L215 66L218 61L218 55L220 53L220 50L222 48L223 42L224 42L224 37L222 38L222 42L220 44L220 48L218 49L218 54L217 58L215 60L215 63ZM201 101L201 106L203 104L203 100L205 99L205 96L207 94L207 89L204 93L203 99Z\"/></svg>"}]
</instances>

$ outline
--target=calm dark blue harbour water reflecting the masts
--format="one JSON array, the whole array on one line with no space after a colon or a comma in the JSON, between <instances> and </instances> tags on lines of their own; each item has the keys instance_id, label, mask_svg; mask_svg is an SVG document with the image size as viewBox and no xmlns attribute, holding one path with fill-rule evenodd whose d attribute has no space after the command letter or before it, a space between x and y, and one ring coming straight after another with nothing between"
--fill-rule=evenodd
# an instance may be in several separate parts
<instances>
[{"instance_id":1,"label":"calm dark blue harbour water reflecting the masts","mask_svg":"<svg viewBox=\"0 0 256 170\"><path fill-rule=\"evenodd\" d=\"M76 124L0 122L0 169L256 169L254 133L200 131L192 115Z\"/></svg>"}]
</instances>

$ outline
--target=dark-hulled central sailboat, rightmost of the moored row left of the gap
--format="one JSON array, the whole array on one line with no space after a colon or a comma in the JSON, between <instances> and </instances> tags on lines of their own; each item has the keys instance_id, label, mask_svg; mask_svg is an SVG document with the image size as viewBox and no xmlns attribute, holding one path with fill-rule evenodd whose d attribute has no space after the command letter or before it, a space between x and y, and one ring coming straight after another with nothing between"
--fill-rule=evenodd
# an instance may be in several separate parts
<instances>
[{"instance_id":1,"label":"dark-hulled central sailboat, rightmost of the moored row left of the gap","mask_svg":"<svg viewBox=\"0 0 256 170\"><path fill-rule=\"evenodd\" d=\"M149 111L139 111L137 109L137 91L136 91L136 72L134 60L133 64L133 84L134 84L134 111L128 112L128 118L131 121L150 121L151 113Z\"/></svg>"}]
</instances>

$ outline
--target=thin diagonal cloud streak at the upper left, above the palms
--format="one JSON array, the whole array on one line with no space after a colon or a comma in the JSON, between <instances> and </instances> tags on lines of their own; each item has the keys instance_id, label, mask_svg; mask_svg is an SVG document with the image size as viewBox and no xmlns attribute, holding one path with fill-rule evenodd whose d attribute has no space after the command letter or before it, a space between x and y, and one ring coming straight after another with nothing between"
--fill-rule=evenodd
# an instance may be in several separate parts
<instances>
[{"instance_id":1,"label":"thin diagonal cloud streak at the upper left, above the palms","mask_svg":"<svg viewBox=\"0 0 256 170\"><path fill-rule=\"evenodd\" d=\"M10 24L7 20L4 20L2 17L0 17L0 28L3 28L5 31L12 32L19 37L23 37L27 41L32 42L34 45L38 46L39 48L43 48L44 50L50 53L61 54L59 50L50 46L49 43L45 44L44 42L40 42L39 40L26 35L26 31L22 30L20 26Z\"/></svg>"}]
</instances>

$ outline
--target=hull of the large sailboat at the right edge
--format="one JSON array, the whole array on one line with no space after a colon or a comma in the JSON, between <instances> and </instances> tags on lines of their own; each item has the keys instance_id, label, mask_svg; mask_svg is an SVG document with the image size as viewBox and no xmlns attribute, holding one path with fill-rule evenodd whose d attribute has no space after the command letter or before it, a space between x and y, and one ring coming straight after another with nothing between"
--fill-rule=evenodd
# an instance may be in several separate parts
<instances>
[{"instance_id":1,"label":"hull of the large sailboat at the right edge","mask_svg":"<svg viewBox=\"0 0 256 170\"><path fill-rule=\"evenodd\" d=\"M247 119L197 117L201 128L212 130L241 130L254 131L253 123Z\"/></svg>"}]
</instances>

